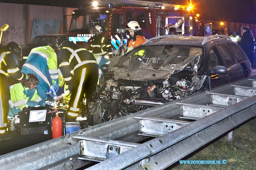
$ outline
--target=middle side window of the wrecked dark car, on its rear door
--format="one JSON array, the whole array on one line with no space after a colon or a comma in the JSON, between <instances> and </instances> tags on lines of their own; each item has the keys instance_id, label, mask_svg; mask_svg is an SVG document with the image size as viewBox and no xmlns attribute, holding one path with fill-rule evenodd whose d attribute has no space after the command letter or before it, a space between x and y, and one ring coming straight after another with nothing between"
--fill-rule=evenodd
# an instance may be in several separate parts
<instances>
[{"instance_id":1,"label":"middle side window of the wrecked dark car, on its rear door","mask_svg":"<svg viewBox=\"0 0 256 170\"><path fill-rule=\"evenodd\" d=\"M228 67L231 67L232 65L235 65L236 59L232 51L230 51L230 49L226 45L226 43L220 43L220 44L217 44L217 46L220 49L220 53L222 55L225 66L228 68Z\"/></svg>"}]
</instances>

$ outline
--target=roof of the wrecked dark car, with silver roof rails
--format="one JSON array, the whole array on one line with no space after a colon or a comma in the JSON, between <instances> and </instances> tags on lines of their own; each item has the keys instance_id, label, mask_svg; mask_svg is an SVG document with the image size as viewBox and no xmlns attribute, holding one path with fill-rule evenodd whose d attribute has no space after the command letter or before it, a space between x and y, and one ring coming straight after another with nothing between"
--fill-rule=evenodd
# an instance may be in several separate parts
<instances>
[{"instance_id":1,"label":"roof of the wrecked dark car, with silver roof rails","mask_svg":"<svg viewBox=\"0 0 256 170\"><path fill-rule=\"evenodd\" d=\"M210 41L211 40L211 41ZM205 42L202 45L202 42ZM217 37L196 37L196 36L183 36L183 35L164 35L155 37L146 41L143 45L185 45L185 46L207 46L212 41L216 42L233 42L226 38Z\"/></svg>"}]
</instances>

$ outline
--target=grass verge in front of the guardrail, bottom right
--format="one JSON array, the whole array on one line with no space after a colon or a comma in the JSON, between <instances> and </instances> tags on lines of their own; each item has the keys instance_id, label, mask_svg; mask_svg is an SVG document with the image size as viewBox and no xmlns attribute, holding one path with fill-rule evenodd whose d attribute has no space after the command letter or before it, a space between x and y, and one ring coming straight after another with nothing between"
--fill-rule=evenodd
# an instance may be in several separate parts
<instances>
[{"instance_id":1,"label":"grass verge in front of the guardrail, bottom right","mask_svg":"<svg viewBox=\"0 0 256 170\"><path fill-rule=\"evenodd\" d=\"M234 139L222 137L187 160L222 160L224 165L177 165L174 170L256 170L256 118L234 130Z\"/></svg>"}]
</instances>

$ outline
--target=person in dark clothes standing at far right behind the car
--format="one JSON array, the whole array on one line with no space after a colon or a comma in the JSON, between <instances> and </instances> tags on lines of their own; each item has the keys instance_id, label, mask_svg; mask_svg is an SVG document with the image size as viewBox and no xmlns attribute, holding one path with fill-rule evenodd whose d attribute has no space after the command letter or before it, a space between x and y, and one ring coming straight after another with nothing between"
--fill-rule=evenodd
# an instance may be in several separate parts
<instances>
[{"instance_id":1,"label":"person in dark clothes standing at far right behind the car","mask_svg":"<svg viewBox=\"0 0 256 170\"><path fill-rule=\"evenodd\" d=\"M240 46L244 50L245 54L249 58L251 65L254 65L254 43L253 43L253 35L251 29L247 26L243 26L241 28L242 38Z\"/></svg>"}]
</instances>

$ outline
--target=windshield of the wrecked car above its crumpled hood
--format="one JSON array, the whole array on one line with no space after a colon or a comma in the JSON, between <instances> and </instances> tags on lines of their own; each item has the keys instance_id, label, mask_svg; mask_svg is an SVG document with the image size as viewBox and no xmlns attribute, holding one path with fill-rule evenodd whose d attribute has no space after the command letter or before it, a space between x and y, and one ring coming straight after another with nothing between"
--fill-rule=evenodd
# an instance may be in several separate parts
<instances>
[{"instance_id":1,"label":"windshield of the wrecked car above its crumpled hood","mask_svg":"<svg viewBox=\"0 0 256 170\"><path fill-rule=\"evenodd\" d=\"M143 61L143 63L164 63L166 62L170 64L174 64L175 62L181 62L180 56L185 60L188 56L197 56L200 55L202 58L203 55L203 48L201 47L194 47L194 46L175 46L175 45L168 45L168 46L141 46L138 48L133 49L126 55L122 56L119 60L119 63L116 67L124 66L124 62L127 60L139 60ZM178 57L177 57L178 56ZM179 58L179 60L178 60ZM182 60L182 61L184 61ZM200 66L200 62L198 63L198 68Z\"/></svg>"}]
</instances>

